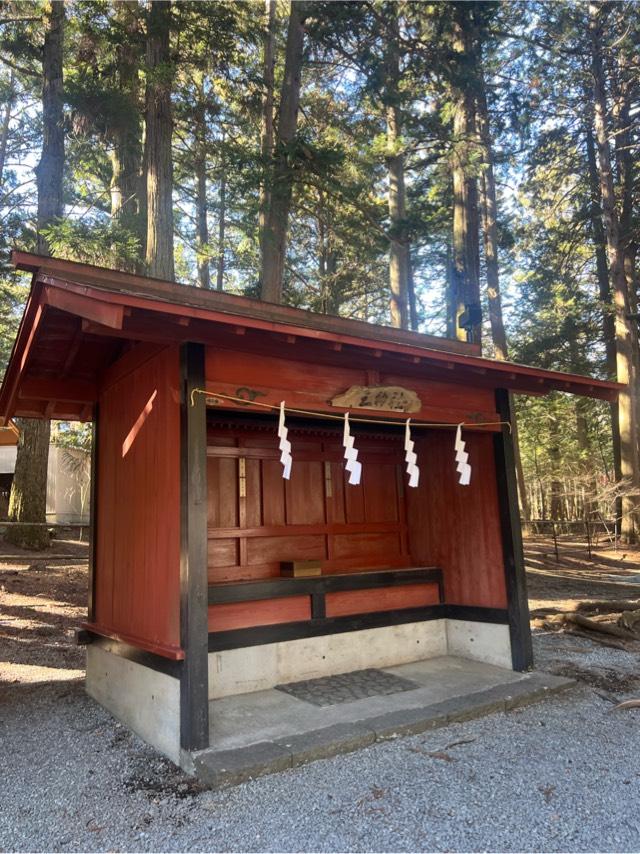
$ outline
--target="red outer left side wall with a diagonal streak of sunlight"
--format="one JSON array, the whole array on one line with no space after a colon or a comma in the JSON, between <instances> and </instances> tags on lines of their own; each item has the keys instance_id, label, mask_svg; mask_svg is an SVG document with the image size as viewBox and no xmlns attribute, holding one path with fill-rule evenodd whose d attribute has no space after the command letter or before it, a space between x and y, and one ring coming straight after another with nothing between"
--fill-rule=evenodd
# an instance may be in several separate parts
<instances>
[{"instance_id":1,"label":"red outer left side wall with a diagonal streak of sunlight","mask_svg":"<svg viewBox=\"0 0 640 854\"><path fill-rule=\"evenodd\" d=\"M95 622L180 654L179 351L139 345L107 372L98 408Z\"/></svg>"}]
</instances>

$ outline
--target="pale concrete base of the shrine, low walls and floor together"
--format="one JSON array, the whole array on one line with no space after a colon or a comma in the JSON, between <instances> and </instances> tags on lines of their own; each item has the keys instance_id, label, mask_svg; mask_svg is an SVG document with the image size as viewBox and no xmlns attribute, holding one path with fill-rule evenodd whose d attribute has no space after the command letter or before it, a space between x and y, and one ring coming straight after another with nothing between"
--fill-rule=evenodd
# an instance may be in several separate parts
<instances>
[{"instance_id":1,"label":"pale concrete base of the shrine, low walls and floor together","mask_svg":"<svg viewBox=\"0 0 640 854\"><path fill-rule=\"evenodd\" d=\"M371 667L413 680L416 689L325 708L274 690L279 684ZM462 620L407 623L210 653L211 749L219 753L294 736L302 745L307 735L320 730L324 735L317 738L324 744L327 727L338 727L332 729L331 743L339 733L341 744L362 746L362 733L350 729L354 722L380 718L395 726L393 715L400 711L422 721L420 710L427 707L429 719L440 720L435 707L452 697L475 696L472 705L477 711L485 708L478 703L479 692L527 678L511 670L508 626ZM185 770L197 770L193 757L180 748L178 679L90 644L86 687L148 744ZM500 702L504 705L502 695ZM485 711L492 709L490 704ZM373 738L371 726L366 738ZM279 756L282 750L278 744L267 753Z\"/></svg>"}]
</instances>

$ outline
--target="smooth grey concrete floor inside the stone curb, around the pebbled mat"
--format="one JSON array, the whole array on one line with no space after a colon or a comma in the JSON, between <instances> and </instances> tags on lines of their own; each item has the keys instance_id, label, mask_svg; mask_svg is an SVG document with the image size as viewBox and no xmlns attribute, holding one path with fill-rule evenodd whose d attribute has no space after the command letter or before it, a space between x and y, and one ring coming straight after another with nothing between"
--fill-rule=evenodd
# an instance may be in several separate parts
<instances>
[{"instance_id":1,"label":"smooth grey concrete floor inside the stone curb, around the pebbled mat","mask_svg":"<svg viewBox=\"0 0 640 854\"><path fill-rule=\"evenodd\" d=\"M452 697L527 679L527 674L453 656L380 669L410 679L418 687L413 691L324 707L275 689L212 700L209 703L210 743L216 750L247 747L338 723L360 723L389 712L432 706Z\"/></svg>"}]
</instances>

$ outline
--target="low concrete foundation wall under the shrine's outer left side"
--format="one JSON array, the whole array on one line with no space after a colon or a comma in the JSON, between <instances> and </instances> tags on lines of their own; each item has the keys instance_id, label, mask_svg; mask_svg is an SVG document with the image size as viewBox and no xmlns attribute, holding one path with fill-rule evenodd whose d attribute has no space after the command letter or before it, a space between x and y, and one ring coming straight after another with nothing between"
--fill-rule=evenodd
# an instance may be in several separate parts
<instances>
[{"instance_id":1,"label":"low concrete foundation wall under the shrine's outer left side","mask_svg":"<svg viewBox=\"0 0 640 854\"><path fill-rule=\"evenodd\" d=\"M176 765L180 754L180 683L96 644L87 647L87 693Z\"/></svg>"}]
</instances>

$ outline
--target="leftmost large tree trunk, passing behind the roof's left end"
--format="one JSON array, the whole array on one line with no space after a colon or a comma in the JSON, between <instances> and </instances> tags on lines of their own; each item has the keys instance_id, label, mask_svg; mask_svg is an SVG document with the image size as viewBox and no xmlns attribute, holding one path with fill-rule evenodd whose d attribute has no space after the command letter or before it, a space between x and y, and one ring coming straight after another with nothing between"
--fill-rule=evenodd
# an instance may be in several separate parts
<instances>
[{"instance_id":1,"label":"leftmost large tree trunk, passing behind the roof's left end","mask_svg":"<svg viewBox=\"0 0 640 854\"><path fill-rule=\"evenodd\" d=\"M42 51L42 155L36 168L40 255L51 254L44 227L64 214L63 40L64 3L54 0L45 7ZM45 523L51 425L48 420L20 419L18 426L20 439L9 497L9 521L19 524L11 525L5 538L24 548L45 549L49 545Z\"/></svg>"}]
</instances>

